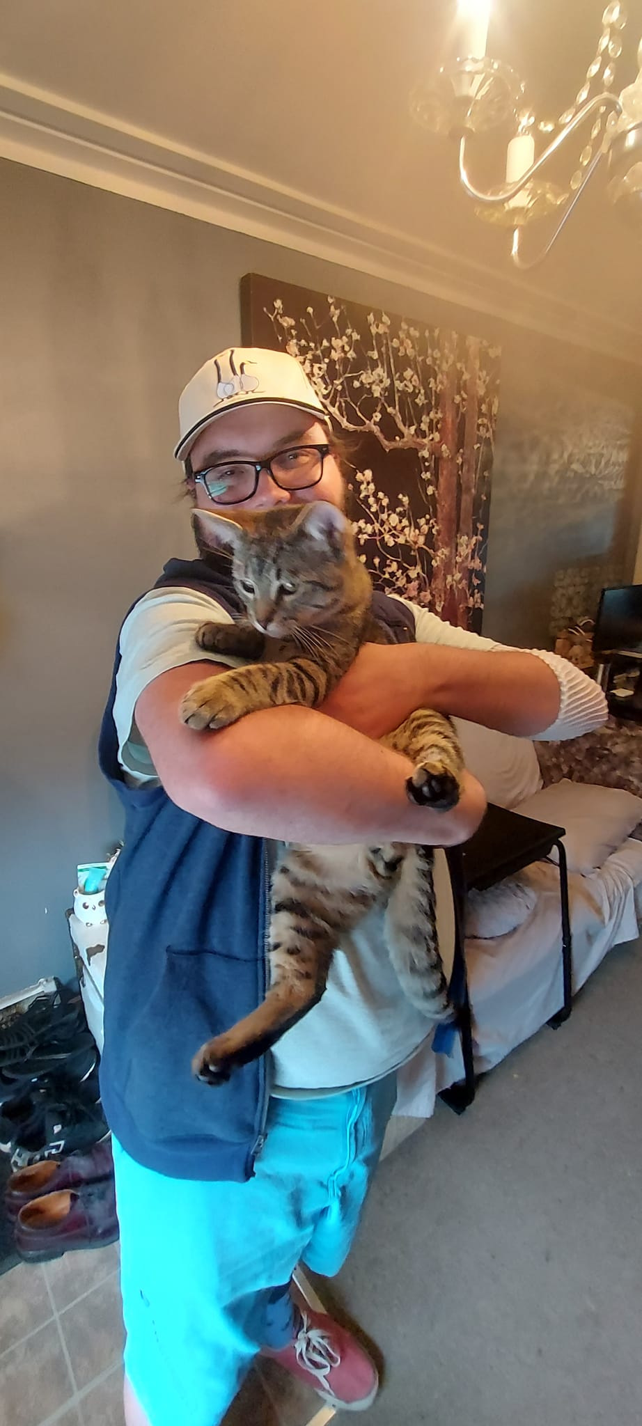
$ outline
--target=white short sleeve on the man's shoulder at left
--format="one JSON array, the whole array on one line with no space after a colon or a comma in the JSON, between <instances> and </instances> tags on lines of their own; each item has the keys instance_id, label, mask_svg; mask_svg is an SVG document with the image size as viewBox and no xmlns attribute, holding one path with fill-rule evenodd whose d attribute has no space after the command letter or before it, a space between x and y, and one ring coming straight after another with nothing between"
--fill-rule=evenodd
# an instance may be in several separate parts
<instances>
[{"instance_id":1,"label":"white short sleeve on the man's shoulder at left","mask_svg":"<svg viewBox=\"0 0 642 1426\"><path fill-rule=\"evenodd\" d=\"M136 726L134 709L143 689L160 673L203 659L240 667L245 660L208 653L195 643L205 619L233 623L215 599L197 589L167 586L153 589L134 605L120 632L120 666L116 676L114 723L118 761L127 780L137 786L157 783L150 753Z\"/></svg>"}]
</instances>

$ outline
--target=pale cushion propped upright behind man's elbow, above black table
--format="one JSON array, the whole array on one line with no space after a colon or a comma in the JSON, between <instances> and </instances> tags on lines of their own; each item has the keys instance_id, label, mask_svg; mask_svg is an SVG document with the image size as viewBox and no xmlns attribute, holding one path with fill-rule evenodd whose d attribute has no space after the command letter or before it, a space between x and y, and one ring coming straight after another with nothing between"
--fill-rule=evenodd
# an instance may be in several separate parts
<instances>
[{"instance_id":1,"label":"pale cushion propped upright behind man's elbow, above black table","mask_svg":"<svg viewBox=\"0 0 642 1426\"><path fill-rule=\"evenodd\" d=\"M512 737L467 719L454 719L464 761L482 784L488 801L516 807L542 786L542 773L529 737Z\"/></svg>"}]
</instances>

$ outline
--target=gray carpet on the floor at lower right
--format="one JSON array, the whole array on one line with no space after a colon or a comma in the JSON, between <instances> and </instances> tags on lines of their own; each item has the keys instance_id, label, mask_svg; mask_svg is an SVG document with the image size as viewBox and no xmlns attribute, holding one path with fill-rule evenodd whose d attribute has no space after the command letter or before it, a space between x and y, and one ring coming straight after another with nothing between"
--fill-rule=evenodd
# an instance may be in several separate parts
<instances>
[{"instance_id":1,"label":"gray carpet on the floor at lower right","mask_svg":"<svg viewBox=\"0 0 642 1426\"><path fill-rule=\"evenodd\" d=\"M641 1045L635 941L381 1165L332 1283L385 1356L368 1426L641 1426Z\"/></svg>"}]
</instances>

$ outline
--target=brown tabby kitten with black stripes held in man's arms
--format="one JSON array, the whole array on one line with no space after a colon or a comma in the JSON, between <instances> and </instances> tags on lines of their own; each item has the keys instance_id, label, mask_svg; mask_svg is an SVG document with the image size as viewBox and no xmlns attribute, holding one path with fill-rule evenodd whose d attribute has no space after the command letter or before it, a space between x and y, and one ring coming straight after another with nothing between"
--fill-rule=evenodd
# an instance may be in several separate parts
<instances>
[{"instance_id":1,"label":"brown tabby kitten with black stripes held in man's arms","mask_svg":"<svg viewBox=\"0 0 642 1426\"><path fill-rule=\"evenodd\" d=\"M227 727L258 709L317 707L360 646L388 643L371 613L372 585L351 528L325 501L235 513L194 511L201 556L231 550L231 578L247 617L204 623L200 647L254 660L194 684L181 703L190 727ZM415 764L411 801L448 810L459 797L462 754L449 719L417 712L381 742ZM435 930L432 848L288 844L271 886L270 990L257 1010L210 1040L193 1070L207 1084L264 1054L321 998L341 933L375 904L398 980L429 1021L448 1017Z\"/></svg>"}]
</instances>

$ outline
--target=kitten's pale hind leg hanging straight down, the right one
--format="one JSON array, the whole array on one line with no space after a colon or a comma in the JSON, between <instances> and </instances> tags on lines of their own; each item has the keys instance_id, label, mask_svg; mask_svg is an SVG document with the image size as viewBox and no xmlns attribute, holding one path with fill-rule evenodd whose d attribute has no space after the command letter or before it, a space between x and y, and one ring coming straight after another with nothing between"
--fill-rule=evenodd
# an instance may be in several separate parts
<instances>
[{"instance_id":1,"label":"kitten's pale hind leg hanging straight down, the right one","mask_svg":"<svg viewBox=\"0 0 642 1426\"><path fill-rule=\"evenodd\" d=\"M451 1012L441 963L432 850L408 847L385 908L384 935L401 988L412 1005L439 1022Z\"/></svg>"}]
</instances>

